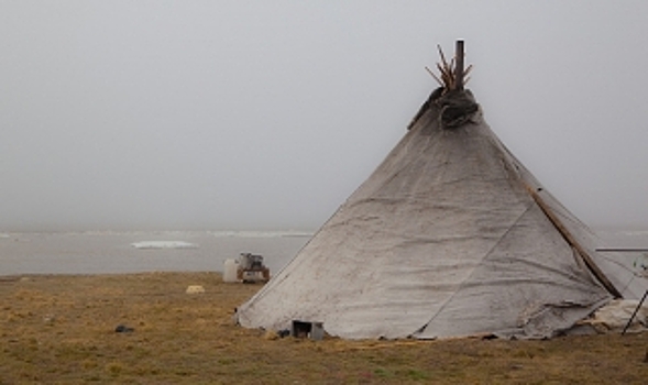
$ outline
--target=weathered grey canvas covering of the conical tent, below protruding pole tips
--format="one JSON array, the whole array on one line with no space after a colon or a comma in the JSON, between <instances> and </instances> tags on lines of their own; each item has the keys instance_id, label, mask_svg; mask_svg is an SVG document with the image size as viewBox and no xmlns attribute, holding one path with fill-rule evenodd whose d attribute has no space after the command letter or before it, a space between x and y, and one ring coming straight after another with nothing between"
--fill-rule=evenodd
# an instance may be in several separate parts
<instances>
[{"instance_id":1,"label":"weathered grey canvas covering of the conical tent, below protruding pole tips","mask_svg":"<svg viewBox=\"0 0 648 385\"><path fill-rule=\"evenodd\" d=\"M499 142L470 91L441 94L238 309L242 326L322 322L348 339L549 338L622 295L596 267L586 227Z\"/></svg>"}]
</instances>

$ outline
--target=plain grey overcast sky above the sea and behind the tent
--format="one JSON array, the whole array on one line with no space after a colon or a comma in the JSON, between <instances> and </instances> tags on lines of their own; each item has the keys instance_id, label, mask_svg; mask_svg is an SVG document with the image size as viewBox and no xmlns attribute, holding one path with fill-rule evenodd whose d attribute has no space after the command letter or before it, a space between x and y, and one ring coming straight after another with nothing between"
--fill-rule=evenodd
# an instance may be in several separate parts
<instances>
[{"instance_id":1,"label":"plain grey overcast sky above the sea and behind the tent","mask_svg":"<svg viewBox=\"0 0 648 385\"><path fill-rule=\"evenodd\" d=\"M646 1L0 0L0 231L317 229L465 40L499 139L648 229Z\"/></svg>"}]
</instances>

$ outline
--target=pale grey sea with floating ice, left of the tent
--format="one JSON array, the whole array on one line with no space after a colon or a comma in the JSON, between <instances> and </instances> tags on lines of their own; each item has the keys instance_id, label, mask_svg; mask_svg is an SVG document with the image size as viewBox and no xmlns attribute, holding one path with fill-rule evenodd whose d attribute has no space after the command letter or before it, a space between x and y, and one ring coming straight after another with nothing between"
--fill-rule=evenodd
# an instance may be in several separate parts
<instances>
[{"instance_id":1,"label":"pale grey sea with floating ice, left of the tent","mask_svg":"<svg viewBox=\"0 0 648 385\"><path fill-rule=\"evenodd\" d=\"M310 237L294 231L2 233L0 275L222 272L224 261L241 253L262 255L274 275Z\"/></svg>"}]
</instances>

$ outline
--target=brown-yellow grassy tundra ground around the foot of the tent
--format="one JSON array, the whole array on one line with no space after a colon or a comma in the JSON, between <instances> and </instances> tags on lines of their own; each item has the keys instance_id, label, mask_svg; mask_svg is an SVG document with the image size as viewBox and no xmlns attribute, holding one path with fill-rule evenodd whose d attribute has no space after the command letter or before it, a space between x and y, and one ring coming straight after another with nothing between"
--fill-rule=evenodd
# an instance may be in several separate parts
<instances>
[{"instance_id":1,"label":"brown-yellow grassy tundra ground around the foot of the tent","mask_svg":"<svg viewBox=\"0 0 648 385\"><path fill-rule=\"evenodd\" d=\"M188 295L189 285L204 294ZM0 384L645 384L648 333L551 341L268 339L216 273L0 277ZM118 324L135 330L116 333Z\"/></svg>"}]
</instances>

